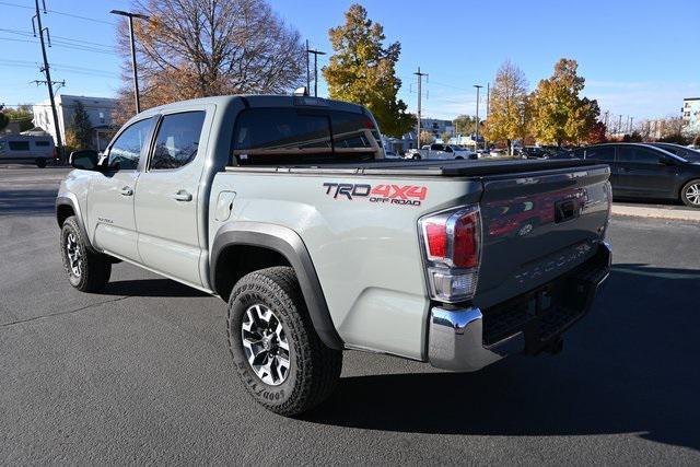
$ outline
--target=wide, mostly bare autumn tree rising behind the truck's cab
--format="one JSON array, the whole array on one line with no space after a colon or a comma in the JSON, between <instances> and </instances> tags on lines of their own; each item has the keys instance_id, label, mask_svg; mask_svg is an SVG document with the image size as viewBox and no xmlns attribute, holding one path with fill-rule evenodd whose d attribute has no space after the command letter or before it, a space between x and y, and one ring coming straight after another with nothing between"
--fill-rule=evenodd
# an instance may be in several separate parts
<instances>
[{"instance_id":1,"label":"wide, mostly bare autumn tree rising behind the truck's cab","mask_svg":"<svg viewBox=\"0 0 700 467\"><path fill-rule=\"evenodd\" d=\"M300 34L266 0L136 0L143 108L221 94L287 93L302 83ZM125 85L117 118L133 114L128 24L119 23Z\"/></svg>"}]
</instances>

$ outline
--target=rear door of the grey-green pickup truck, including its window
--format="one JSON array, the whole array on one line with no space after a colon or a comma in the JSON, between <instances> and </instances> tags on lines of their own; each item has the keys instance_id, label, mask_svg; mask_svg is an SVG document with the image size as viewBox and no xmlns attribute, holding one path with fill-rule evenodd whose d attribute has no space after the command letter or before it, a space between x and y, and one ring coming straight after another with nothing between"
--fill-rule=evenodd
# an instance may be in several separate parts
<instances>
[{"instance_id":1,"label":"rear door of the grey-green pickup truck, including its window","mask_svg":"<svg viewBox=\"0 0 700 467\"><path fill-rule=\"evenodd\" d=\"M199 287L202 248L197 213L203 217L207 212L200 191L206 120L201 107L161 116L139 177L135 207L143 265Z\"/></svg>"}]
</instances>

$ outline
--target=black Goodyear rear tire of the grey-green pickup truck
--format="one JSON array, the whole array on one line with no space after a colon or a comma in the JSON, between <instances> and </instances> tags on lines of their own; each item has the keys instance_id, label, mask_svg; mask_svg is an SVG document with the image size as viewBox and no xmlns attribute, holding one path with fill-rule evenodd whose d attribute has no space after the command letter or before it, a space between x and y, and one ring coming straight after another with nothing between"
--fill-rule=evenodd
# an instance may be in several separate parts
<instances>
[{"instance_id":1,"label":"black Goodyear rear tire of the grey-green pickup truck","mask_svg":"<svg viewBox=\"0 0 700 467\"><path fill-rule=\"evenodd\" d=\"M246 313L256 305L275 314L289 345L289 370L277 385L262 382L244 349ZM261 269L235 284L229 299L228 334L229 349L241 382L258 404L272 412L299 416L323 402L340 378L342 352L326 347L316 334L292 268ZM269 358L268 353L265 359Z\"/></svg>"}]
</instances>

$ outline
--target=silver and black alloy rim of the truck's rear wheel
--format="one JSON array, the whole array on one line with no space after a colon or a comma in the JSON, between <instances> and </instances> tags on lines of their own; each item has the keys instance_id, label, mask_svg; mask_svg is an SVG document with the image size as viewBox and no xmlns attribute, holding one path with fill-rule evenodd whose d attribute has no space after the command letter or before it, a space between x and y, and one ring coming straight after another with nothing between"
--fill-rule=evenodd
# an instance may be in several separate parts
<instances>
[{"instance_id":1,"label":"silver and black alloy rim of the truck's rear wheel","mask_svg":"<svg viewBox=\"0 0 700 467\"><path fill-rule=\"evenodd\" d=\"M243 350L262 383L279 386L290 370L290 351L282 322L267 306L255 304L245 311L241 329Z\"/></svg>"}]
</instances>

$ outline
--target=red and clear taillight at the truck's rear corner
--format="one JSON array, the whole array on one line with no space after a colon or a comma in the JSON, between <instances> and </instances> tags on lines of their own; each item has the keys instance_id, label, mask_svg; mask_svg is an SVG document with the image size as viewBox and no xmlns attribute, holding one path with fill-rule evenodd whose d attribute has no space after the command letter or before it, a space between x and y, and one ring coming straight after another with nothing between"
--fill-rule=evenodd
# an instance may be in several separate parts
<instances>
[{"instance_id":1,"label":"red and clear taillight at the truck's rear corner","mask_svg":"<svg viewBox=\"0 0 700 467\"><path fill-rule=\"evenodd\" d=\"M425 215L419 224L431 297L447 303L470 300L481 253L478 205Z\"/></svg>"}]
</instances>

